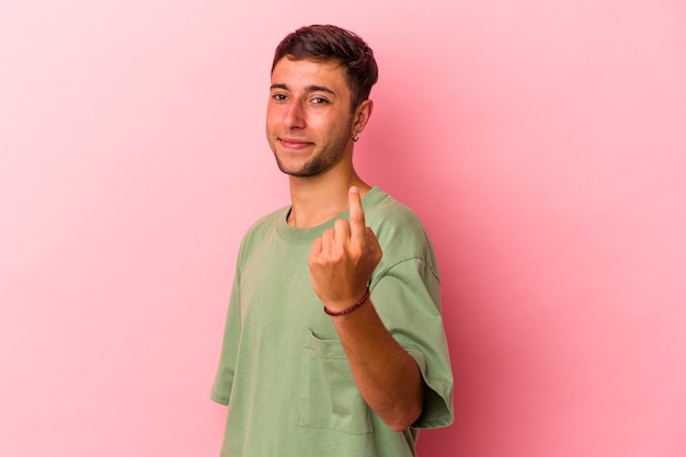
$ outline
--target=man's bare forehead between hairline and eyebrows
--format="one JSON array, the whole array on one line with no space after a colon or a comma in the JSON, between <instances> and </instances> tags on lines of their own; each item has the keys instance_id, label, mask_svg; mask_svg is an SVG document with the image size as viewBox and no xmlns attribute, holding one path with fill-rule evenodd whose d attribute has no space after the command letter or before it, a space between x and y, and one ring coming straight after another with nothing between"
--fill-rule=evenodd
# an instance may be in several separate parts
<instances>
[{"instance_id":1,"label":"man's bare forehead between hairline and eyebrows","mask_svg":"<svg viewBox=\"0 0 686 457\"><path fill-rule=\"evenodd\" d=\"M283 57L272 71L272 84L284 84L291 90L323 85L338 93L350 92L345 69L336 61L291 60Z\"/></svg>"}]
</instances>

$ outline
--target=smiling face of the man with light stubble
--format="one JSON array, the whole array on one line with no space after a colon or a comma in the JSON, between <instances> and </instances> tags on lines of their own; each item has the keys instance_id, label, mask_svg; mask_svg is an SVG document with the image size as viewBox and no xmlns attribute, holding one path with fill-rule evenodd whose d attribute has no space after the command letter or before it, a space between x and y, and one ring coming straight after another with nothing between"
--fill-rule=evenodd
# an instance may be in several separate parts
<instances>
[{"instance_id":1,"label":"smiling face of the man with light stubble","mask_svg":"<svg viewBox=\"0 0 686 457\"><path fill-rule=\"evenodd\" d=\"M282 58L272 71L266 138L282 172L315 176L352 152L353 114L336 62Z\"/></svg>"}]
</instances>

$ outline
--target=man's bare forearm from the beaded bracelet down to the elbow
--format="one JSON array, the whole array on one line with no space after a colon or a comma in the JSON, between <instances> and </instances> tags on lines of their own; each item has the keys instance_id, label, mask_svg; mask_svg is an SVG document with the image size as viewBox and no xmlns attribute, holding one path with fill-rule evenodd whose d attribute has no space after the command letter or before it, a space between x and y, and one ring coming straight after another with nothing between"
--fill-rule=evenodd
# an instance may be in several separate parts
<instances>
[{"instance_id":1,"label":"man's bare forearm from the beaded bracelet down to the elbow","mask_svg":"<svg viewBox=\"0 0 686 457\"><path fill-rule=\"evenodd\" d=\"M384 327L370 301L332 320L362 397L392 430L409 427L423 407L424 386L414 359Z\"/></svg>"}]
</instances>

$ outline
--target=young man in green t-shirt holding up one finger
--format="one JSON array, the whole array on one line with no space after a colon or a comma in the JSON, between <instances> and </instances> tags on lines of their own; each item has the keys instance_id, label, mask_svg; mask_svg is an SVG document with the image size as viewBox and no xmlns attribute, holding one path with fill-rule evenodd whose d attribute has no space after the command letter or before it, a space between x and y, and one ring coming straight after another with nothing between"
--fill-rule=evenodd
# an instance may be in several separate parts
<instances>
[{"instance_id":1,"label":"young man in green t-shirt holding up one finger","mask_svg":"<svg viewBox=\"0 0 686 457\"><path fill-rule=\"evenodd\" d=\"M291 205L238 255L211 398L222 456L414 456L453 421L453 376L431 241L353 168L377 80L371 49L330 25L276 48L266 137Z\"/></svg>"}]
</instances>

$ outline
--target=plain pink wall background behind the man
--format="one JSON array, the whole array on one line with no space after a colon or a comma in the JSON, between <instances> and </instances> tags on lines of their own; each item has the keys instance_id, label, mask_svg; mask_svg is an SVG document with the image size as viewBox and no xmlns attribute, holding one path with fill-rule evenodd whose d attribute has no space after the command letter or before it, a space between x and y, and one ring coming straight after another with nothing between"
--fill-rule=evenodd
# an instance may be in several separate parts
<instances>
[{"instance_id":1,"label":"plain pink wall background behind the man","mask_svg":"<svg viewBox=\"0 0 686 457\"><path fill-rule=\"evenodd\" d=\"M381 68L359 171L442 266L421 455L686 455L684 2L244 3L2 2L0 455L218 455L238 243L288 197L272 53L328 22Z\"/></svg>"}]
</instances>

